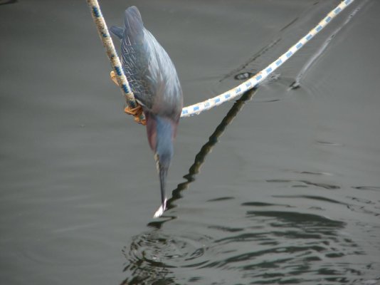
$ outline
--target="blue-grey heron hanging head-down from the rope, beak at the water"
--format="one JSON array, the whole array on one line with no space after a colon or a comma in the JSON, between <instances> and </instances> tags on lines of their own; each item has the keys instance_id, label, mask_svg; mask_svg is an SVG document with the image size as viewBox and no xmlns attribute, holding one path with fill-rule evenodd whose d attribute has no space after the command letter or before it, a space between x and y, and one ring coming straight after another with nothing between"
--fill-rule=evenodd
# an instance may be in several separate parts
<instances>
[{"instance_id":1,"label":"blue-grey heron hanging head-down from the rope, beak at the water","mask_svg":"<svg viewBox=\"0 0 380 285\"><path fill-rule=\"evenodd\" d=\"M110 31L120 38L122 69L146 118L147 138L154 152L161 190L161 206L154 217L160 217L166 209L167 174L184 99L176 68L144 27L139 9L131 6L124 16L125 26L111 26Z\"/></svg>"}]
</instances>

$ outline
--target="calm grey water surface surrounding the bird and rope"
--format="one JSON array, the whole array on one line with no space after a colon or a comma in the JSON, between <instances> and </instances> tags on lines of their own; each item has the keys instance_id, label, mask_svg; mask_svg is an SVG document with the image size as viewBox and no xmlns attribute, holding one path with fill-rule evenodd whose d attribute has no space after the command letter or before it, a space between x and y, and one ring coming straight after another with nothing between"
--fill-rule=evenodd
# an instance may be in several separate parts
<instances>
[{"instance_id":1,"label":"calm grey water surface surrounding the bird and rope","mask_svg":"<svg viewBox=\"0 0 380 285\"><path fill-rule=\"evenodd\" d=\"M161 219L85 1L6 2L0 284L380 284L379 1L355 1L255 93L181 120ZM107 23L139 7L186 105L339 3L127 2L101 1Z\"/></svg>"}]
</instances>

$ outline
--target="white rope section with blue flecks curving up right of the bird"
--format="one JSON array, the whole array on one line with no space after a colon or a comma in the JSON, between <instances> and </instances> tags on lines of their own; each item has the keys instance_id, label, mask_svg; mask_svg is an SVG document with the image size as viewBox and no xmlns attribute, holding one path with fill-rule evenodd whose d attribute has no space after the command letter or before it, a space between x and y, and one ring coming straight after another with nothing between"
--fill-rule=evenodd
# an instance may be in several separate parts
<instances>
[{"instance_id":1,"label":"white rope section with blue flecks curving up right of the bird","mask_svg":"<svg viewBox=\"0 0 380 285\"><path fill-rule=\"evenodd\" d=\"M322 21L320 21L320 23L317 24L317 26L312 28L312 30L310 30L309 33L302 37L300 41L295 43L294 46L289 48L289 50L286 51L282 56L276 59L273 63L270 63L269 66L264 68L259 73L256 73L255 76L241 83L241 85L236 86L235 88L232 88L231 90L228 90L224 93L221 93L221 95L217 95L214 98L205 100L204 102L184 107L182 109L181 118L190 117L192 115L198 115L199 113L205 110L210 110L213 107L225 103L226 101L233 100L234 98L242 95L247 90L250 90L255 86L258 86L258 84L263 82L265 78L267 78L270 75L270 73L273 73L273 71L282 66L283 63L285 63L285 61L291 58L297 51L300 50L300 48L302 48L302 46L305 45L305 43L310 41L317 33L322 31L322 29L325 26L327 26L327 24L329 24L329 22L332 19L334 19L334 17L337 16L337 14L339 14L341 11L347 8L347 6L349 6L349 4L352 4L352 2L354 2L354 0L342 1L335 9L333 9L329 12L329 14L327 14L327 16L324 17L324 19L322 19Z\"/></svg>"}]
</instances>

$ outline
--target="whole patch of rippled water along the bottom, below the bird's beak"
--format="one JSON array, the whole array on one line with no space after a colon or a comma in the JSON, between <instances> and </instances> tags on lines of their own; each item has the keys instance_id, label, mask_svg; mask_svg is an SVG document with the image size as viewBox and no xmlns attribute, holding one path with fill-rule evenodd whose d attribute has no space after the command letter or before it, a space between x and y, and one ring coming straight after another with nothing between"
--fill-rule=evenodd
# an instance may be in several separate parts
<instances>
[{"instance_id":1,"label":"whole patch of rippled water along the bottom, below the bird's beak","mask_svg":"<svg viewBox=\"0 0 380 285\"><path fill-rule=\"evenodd\" d=\"M316 195L289 197L344 204ZM243 217L209 225L202 231L207 235L195 234L194 229L181 234L154 229L134 237L123 251L130 277L122 284L212 284L205 270L212 274L213 284L364 281L361 276L371 264L347 262L367 253L345 234L346 222L286 204L258 201L241 206ZM191 276L181 277L189 269Z\"/></svg>"}]
</instances>

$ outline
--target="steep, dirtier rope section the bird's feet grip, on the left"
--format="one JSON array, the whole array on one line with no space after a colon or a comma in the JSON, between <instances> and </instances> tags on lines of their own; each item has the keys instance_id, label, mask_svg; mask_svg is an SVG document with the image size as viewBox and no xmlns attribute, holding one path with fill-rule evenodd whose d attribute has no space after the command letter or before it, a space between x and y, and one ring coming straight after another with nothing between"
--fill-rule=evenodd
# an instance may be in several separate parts
<instances>
[{"instance_id":1,"label":"steep, dirtier rope section the bird's feet grip, on the left","mask_svg":"<svg viewBox=\"0 0 380 285\"><path fill-rule=\"evenodd\" d=\"M122 70L122 64L117 56L115 46L113 45L112 38L110 36L110 32L108 31L107 24L105 23L105 19L103 18L102 11L100 10L99 3L97 3L97 0L87 0L87 4L90 7L90 11L93 15L93 20L97 28L97 33L99 33L107 56L110 59L111 66L117 80L117 85L120 86L120 89L122 90L122 95L124 95L125 102L130 109L137 108L137 102L134 99L130 84L125 77L124 71ZM144 120L144 115L142 113L139 115L139 120Z\"/></svg>"}]
</instances>

